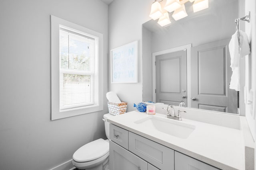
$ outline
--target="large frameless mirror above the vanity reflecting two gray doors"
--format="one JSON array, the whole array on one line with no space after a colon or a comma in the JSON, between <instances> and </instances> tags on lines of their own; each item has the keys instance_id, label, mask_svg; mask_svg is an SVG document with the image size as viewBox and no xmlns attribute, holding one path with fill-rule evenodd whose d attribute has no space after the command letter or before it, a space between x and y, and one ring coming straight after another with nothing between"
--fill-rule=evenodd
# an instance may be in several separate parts
<instances>
[{"instance_id":1,"label":"large frameless mirror above the vanity reflecting two gray doors","mask_svg":"<svg viewBox=\"0 0 256 170\"><path fill-rule=\"evenodd\" d=\"M234 20L244 14L242 1L209 0L209 8L196 13L192 3L185 7L188 16L175 21L169 13L172 23L166 27L157 20L142 25L143 101L184 101L185 107L238 114L243 94L229 88L228 43Z\"/></svg>"}]
</instances>

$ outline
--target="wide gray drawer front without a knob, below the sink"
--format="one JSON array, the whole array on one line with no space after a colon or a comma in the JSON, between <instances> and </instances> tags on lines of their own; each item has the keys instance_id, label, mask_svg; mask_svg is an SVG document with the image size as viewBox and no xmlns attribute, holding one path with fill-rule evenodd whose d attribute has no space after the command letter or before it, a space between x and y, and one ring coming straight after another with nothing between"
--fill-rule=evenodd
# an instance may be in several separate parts
<instances>
[{"instance_id":1,"label":"wide gray drawer front without a knob, below the sink","mask_svg":"<svg viewBox=\"0 0 256 170\"><path fill-rule=\"evenodd\" d=\"M174 170L174 150L129 132L129 150L161 170Z\"/></svg>"}]
</instances>

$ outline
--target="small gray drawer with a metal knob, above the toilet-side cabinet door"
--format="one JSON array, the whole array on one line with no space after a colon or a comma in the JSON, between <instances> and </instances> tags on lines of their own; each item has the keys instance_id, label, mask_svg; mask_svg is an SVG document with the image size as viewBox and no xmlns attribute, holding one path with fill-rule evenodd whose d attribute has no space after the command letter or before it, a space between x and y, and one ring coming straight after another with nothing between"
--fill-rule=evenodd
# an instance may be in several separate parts
<instances>
[{"instance_id":1,"label":"small gray drawer with a metal knob, above the toilet-side cabinet door","mask_svg":"<svg viewBox=\"0 0 256 170\"><path fill-rule=\"evenodd\" d=\"M116 125L110 124L110 139L111 141L117 143L121 147L128 150L128 131L118 127Z\"/></svg>"}]
</instances>

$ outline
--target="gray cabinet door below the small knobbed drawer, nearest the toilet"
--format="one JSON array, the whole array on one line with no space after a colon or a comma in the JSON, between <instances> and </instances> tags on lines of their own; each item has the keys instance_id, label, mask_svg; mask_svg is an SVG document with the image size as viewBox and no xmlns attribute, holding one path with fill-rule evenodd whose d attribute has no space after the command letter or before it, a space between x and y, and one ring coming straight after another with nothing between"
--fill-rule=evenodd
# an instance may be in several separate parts
<instances>
[{"instance_id":1,"label":"gray cabinet door below the small knobbed drawer, nearest the toilet","mask_svg":"<svg viewBox=\"0 0 256 170\"><path fill-rule=\"evenodd\" d=\"M112 141L109 142L109 166L110 170L148 169L148 164L146 161Z\"/></svg>"}]
</instances>

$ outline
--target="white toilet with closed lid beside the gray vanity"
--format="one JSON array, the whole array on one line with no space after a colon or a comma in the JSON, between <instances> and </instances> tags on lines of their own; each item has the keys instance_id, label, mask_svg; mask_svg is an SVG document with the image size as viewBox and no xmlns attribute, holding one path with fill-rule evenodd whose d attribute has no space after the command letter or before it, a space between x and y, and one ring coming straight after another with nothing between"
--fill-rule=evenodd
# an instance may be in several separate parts
<instances>
[{"instance_id":1,"label":"white toilet with closed lid beside the gray vanity","mask_svg":"<svg viewBox=\"0 0 256 170\"><path fill-rule=\"evenodd\" d=\"M108 117L114 115L105 114L102 119L105 122L105 132L109 139ZM109 141L108 139L97 139L80 147L73 154L73 165L81 170L109 170Z\"/></svg>"}]
</instances>

